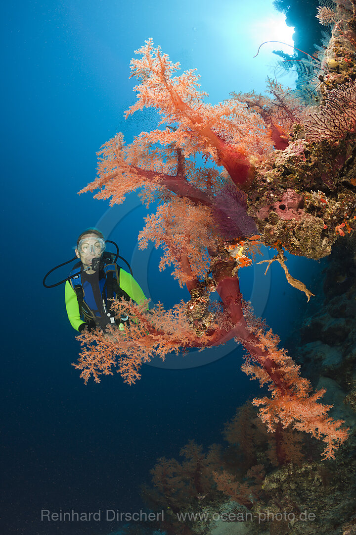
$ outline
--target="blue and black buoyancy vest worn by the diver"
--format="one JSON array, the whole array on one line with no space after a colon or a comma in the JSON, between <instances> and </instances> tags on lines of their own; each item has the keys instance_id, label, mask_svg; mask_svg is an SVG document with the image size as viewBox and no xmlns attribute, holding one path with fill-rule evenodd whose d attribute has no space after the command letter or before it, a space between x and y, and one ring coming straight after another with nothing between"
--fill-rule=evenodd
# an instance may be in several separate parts
<instances>
[{"instance_id":1,"label":"blue and black buoyancy vest worn by the diver","mask_svg":"<svg viewBox=\"0 0 356 535\"><path fill-rule=\"evenodd\" d=\"M108 323L113 323L113 314L110 312L110 299L124 297L130 300L130 296L120 288L120 266L113 262L111 254L102 258L104 266L98 273L97 284L101 303L97 303L91 282L88 277L83 277L82 263L75 264L70 272L70 285L74 289L79 305L81 318L84 322L93 319L96 323L104 327ZM94 275L90 276L94 277ZM93 279L94 281L94 279ZM102 303L104 301L104 303ZM98 306L99 305L99 306Z\"/></svg>"}]
</instances>

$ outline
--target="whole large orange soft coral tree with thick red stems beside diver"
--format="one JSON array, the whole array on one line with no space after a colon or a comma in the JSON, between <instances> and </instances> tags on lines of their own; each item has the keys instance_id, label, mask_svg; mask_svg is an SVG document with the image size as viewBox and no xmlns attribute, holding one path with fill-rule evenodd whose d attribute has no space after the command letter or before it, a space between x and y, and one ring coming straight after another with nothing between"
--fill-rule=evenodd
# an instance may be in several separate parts
<instances>
[{"instance_id":1,"label":"whole large orange soft coral tree with thick red stems beside diver","mask_svg":"<svg viewBox=\"0 0 356 535\"><path fill-rule=\"evenodd\" d=\"M238 279L238 270L251 263L261 241L272 240L272 230L276 233L278 259L283 263L282 247L287 247L293 225L300 228L293 234L294 247L296 236L302 236L299 248L302 250L303 244L306 249L302 243L303 214L310 218L307 221L313 228L319 228L315 220L323 217L320 210L325 209L325 203L320 203L318 212L313 208L313 215L308 215L303 211L302 193L296 193L284 175L287 184L281 190L281 198L288 217L281 228L287 228L289 234L279 236L279 227L271 230L265 225L268 210L273 210L274 204L274 215L278 218L280 213L281 221L285 217L276 198L277 179L275 195L267 197L270 204L264 209L248 208L249 203L251 207L251 202L257 202L256 198L266 196L266 184L272 182L268 172L258 182L256 166L262 169L263 162L270 161L273 147L286 148L286 119L280 121L279 106L273 117L271 104L268 114L263 114L256 106L235 97L215 106L205 103L206 94L200 91L195 71L174 76L179 64L171 63L159 47L154 48L152 40L137 54L140 57L132 60L131 70L139 82L135 87L138 100L126 116L145 106L152 107L161 116L160 128L141 133L131 144L125 144L122 134L108 141L99 152L97 179L82 192L98 189L96 197L110 198L113 204L122 203L126 194L140 189L147 205L158 202L156 213L146 218L140 246L146 247L148 240L153 240L156 247L164 250L160 267L173 265L175 278L181 286L186 285L191 300L170 311L164 311L161 304L147 311L144 305L117 302L117 314L125 309L135 320L124 333L110 327L106 333L82 334L85 348L76 367L82 370L85 381L90 375L99 381L101 373L112 373L117 367L124 380L133 383L139 378L141 364L154 355L164 358L170 351L202 349L235 338L248 351L243 369L270 389L271 398L255 401L262 406L260 416L268 428L278 433L282 427L291 426L311 433L326 442L325 456L333 457L347 431L342 429L342 422L328 417L330 407L319 401L323 392L312 393L311 385L300 376L299 366L278 348L278 338L266 332L263 323L247 310ZM280 103L281 89L278 90ZM288 155L294 157L298 150L297 157L303 161L298 143L293 150ZM200 167L195 159L199 154L205 159L205 165ZM257 197L259 190L262 193ZM262 232L264 236L260 236ZM313 239L315 242L314 234ZM335 233L332 239L336 239ZM315 251L316 247L310 249ZM209 301L212 291L218 292L220 303ZM278 457L280 462L286 457L282 441Z\"/></svg>"}]
</instances>

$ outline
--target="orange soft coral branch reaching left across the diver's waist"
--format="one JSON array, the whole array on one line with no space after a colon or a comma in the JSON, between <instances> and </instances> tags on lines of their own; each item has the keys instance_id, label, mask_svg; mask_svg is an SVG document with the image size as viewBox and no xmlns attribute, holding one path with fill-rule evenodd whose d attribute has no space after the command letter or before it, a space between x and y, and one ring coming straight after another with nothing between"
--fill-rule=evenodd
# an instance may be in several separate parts
<instances>
[{"instance_id":1,"label":"orange soft coral branch reaching left across the diver's waist","mask_svg":"<svg viewBox=\"0 0 356 535\"><path fill-rule=\"evenodd\" d=\"M117 368L125 383L132 384L140 378L141 366L153 357L164 360L169 353L207 346L211 341L209 335L198 337L191 329L185 306L181 301L164 310L159 303L148 311L147 302L114 301L112 310L118 322L123 314L128 314L130 327L124 331L108 327L106 332L96 329L81 333L77 338L83 350L74 367L81 370L85 383L91 376L100 383L100 375L113 375Z\"/></svg>"}]
</instances>

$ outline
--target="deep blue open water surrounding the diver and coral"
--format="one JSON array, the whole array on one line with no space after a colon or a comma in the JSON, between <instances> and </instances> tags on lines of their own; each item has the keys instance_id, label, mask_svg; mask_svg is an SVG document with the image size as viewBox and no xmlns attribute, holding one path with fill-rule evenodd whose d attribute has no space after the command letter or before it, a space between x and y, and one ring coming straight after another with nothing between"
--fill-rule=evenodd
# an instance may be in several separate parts
<instances>
[{"instance_id":1,"label":"deep blue open water surrounding the diver and coral","mask_svg":"<svg viewBox=\"0 0 356 535\"><path fill-rule=\"evenodd\" d=\"M240 370L239 347L199 367L190 367L194 354L181 369L145 365L134 386L117 374L84 386L70 365L79 344L64 287L42 286L49 269L73 256L83 228L101 220L154 302L169 307L187 297L169 269L157 269L158 251L132 256L146 214L135 194L130 209L107 212L108 203L76 192L94 178L96 151L110 136L123 131L131 141L155 126L151 112L123 120L135 102L130 58L148 37L183 68L198 69L211 102L233 90L263 90L271 55L252 63L258 39L249 45L243 23L254 20L256 7L262 19L272 13L271 4L222 2L218 14L215 5L72 0L4 8L2 533L108 533L115 525L44 524L39 515L137 510L139 486L158 457L177 456L189 439L205 447L221 442L224 422L259 392ZM318 264L290 262L295 276L314 284ZM280 266L272 266L267 289L264 269L256 270L254 305L283 340L305 298L286 284ZM247 298L253 275L250 268L241 277Z\"/></svg>"}]
</instances>

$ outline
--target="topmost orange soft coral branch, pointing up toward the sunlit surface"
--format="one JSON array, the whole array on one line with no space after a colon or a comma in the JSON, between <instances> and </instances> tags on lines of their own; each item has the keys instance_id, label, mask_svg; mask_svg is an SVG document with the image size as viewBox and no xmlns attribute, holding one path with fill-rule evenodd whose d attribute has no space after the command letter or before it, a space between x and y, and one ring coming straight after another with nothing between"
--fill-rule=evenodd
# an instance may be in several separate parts
<instances>
[{"instance_id":1,"label":"topmost orange soft coral branch, pointing up toward the sunlit surface","mask_svg":"<svg viewBox=\"0 0 356 535\"><path fill-rule=\"evenodd\" d=\"M265 143L267 147L270 140L262 118L249 112L241 102L234 106L226 103L218 106L204 104L202 98L206 94L197 90L198 77L194 71L171 78L179 64L172 64L168 56L161 53L160 47L154 49L152 39L146 41L144 47L136 53L141 54L142 58L132 60L131 70L132 76L135 75L141 83L135 87L138 101L126 112L126 117L144 106L153 106L163 116L162 123L179 124L177 141L182 132L186 136L187 131L190 131L192 135L185 139L189 144L189 137L192 137L194 151L197 144L202 144L205 154L212 157L218 165L223 165L235 184L242 188L248 187L254 167L246 156L246 142L250 141L255 146ZM234 116L239 117L239 123L230 119L235 119ZM254 125L253 128L251 124ZM246 140L243 140L243 135ZM240 150L236 149L236 143L232 143L238 137L244 141Z\"/></svg>"}]
</instances>

